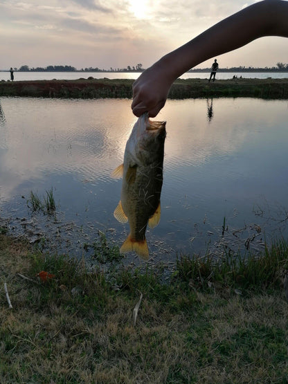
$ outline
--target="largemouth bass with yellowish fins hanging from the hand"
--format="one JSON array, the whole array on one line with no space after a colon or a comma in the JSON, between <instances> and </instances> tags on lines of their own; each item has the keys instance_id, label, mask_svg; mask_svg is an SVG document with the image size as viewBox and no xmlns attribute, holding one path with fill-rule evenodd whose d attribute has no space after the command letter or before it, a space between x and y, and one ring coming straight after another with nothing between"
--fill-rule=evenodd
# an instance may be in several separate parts
<instances>
[{"instance_id":1,"label":"largemouth bass with yellowish fins hanging from the hand","mask_svg":"<svg viewBox=\"0 0 288 384\"><path fill-rule=\"evenodd\" d=\"M130 228L120 253L135 251L145 260L149 259L146 228L156 227L161 217L165 126L165 121L151 121L143 113L127 140L123 164L111 173L115 179L123 178L114 217L120 223L128 221Z\"/></svg>"}]
</instances>

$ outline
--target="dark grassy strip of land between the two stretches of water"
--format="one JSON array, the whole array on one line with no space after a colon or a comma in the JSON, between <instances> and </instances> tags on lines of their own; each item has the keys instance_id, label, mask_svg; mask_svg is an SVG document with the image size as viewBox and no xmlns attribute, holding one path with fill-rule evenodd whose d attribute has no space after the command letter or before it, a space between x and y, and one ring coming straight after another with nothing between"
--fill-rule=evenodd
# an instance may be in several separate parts
<instances>
[{"instance_id":1,"label":"dark grassy strip of land between the two stretches of water","mask_svg":"<svg viewBox=\"0 0 288 384\"><path fill-rule=\"evenodd\" d=\"M88 79L78 80L27 80L0 82L0 96L35 98L132 98L131 79ZM288 98L287 79L216 80L177 79L171 86L168 98L217 98L251 97L267 99Z\"/></svg>"}]
</instances>

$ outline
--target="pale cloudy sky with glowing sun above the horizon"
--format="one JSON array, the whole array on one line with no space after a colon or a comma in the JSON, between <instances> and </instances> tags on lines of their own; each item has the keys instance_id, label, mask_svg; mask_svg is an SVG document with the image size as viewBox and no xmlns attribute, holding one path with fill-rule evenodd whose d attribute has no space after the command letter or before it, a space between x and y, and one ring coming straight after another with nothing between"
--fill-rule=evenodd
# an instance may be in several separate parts
<instances>
[{"instance_id":1,"label":"pale cloudy sky with glowing sun above the horizon","mask_svg":"<svg viewBox=\"0 0 288 384\"><path fill-rule=\"evenodd\" d=\"M143 68L257 1L0 0L0 69ZM217 57L222 68L288 63L288 39L262 37ZM197 66L206 68L213 60Z\"/></svg>"}]
</instances>

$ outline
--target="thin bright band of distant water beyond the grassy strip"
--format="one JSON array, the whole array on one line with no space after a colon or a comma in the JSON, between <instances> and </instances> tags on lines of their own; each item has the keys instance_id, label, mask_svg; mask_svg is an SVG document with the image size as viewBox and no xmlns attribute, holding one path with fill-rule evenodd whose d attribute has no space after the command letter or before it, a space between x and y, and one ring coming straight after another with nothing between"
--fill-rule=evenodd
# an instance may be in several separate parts
<instances>
[{"instance_id":1,"label":"thin bright band of distant water beyond the grassy strip","mask_svg":"<svg viewBox=\"0 0 288 384\"><path fill-rule=\"evenodd\" d=\"M137 79L141 73L138 72L15 72L15 81L20 80L77 80L80 77L87 79L88 77L94 77L95 79L102 79L107 77L108 79ZM233 76L244 77L244 78L256 78L256 79L267 79L272 77L275 79L285 79L288 77L288 72L218 72L216 79L226 80L232 79ZM210 77L208 72L197 72L197 73L184 73L180 76L181 79L207 79ZM0 71L0 80L10 80L10 72Z\"/></svg>"}]
</instances>

